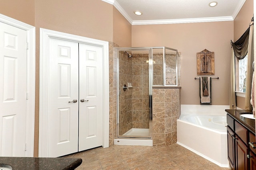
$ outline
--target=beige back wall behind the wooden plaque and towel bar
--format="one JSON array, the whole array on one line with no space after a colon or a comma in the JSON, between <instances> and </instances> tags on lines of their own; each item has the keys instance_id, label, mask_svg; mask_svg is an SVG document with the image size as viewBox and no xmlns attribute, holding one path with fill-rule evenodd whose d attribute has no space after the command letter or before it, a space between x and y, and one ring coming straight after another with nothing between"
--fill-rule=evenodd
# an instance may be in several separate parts
<instances>
[{"instance_id":1,"label":"beige back wall behind the wooden plaque and towel bar","mask_svg":"<svg viewBox=\"0 0 256 170\"><path fill-rule=\"evenodd\" d=\"M181 53L181 104L200 104L196 53L208 49L220 77L212 80L212 105L229 105L232 38L233 21L132 26L132 47L166 46Z\"/></svg>"}]
</instances>

